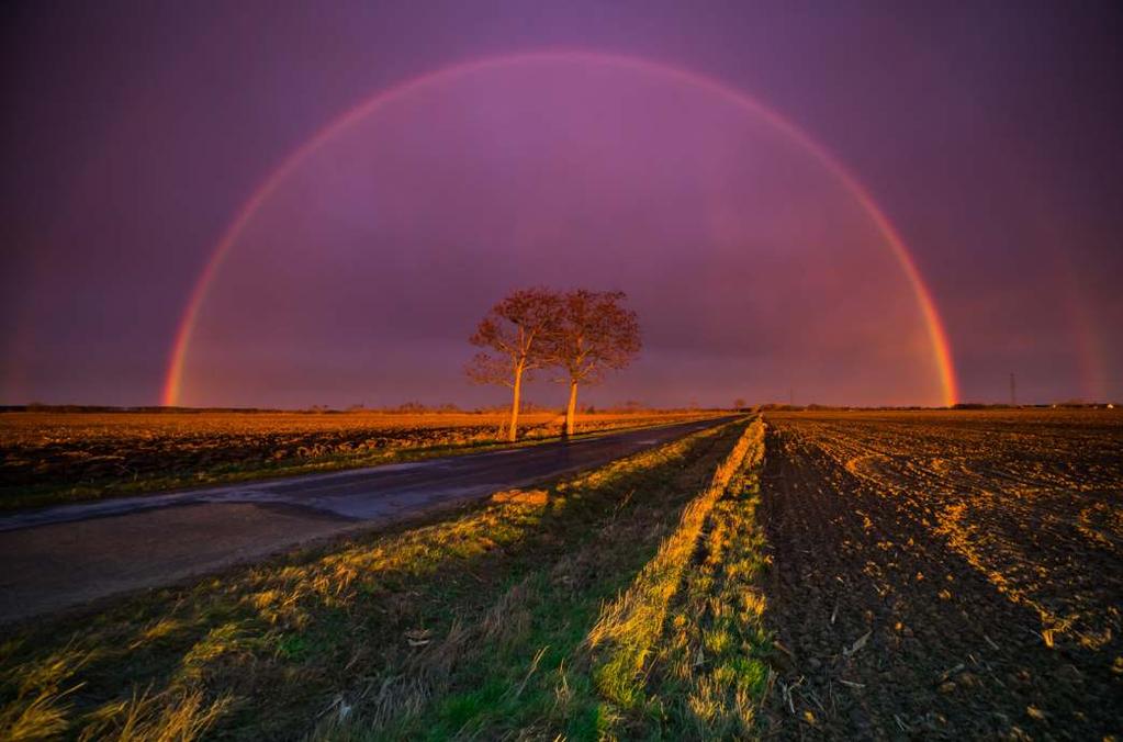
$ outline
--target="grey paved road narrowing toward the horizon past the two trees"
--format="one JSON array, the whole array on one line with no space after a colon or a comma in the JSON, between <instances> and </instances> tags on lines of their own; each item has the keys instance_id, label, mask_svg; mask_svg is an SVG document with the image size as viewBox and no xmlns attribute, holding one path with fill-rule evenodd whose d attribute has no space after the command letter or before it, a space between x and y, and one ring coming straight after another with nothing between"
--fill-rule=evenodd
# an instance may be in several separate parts
<instances>
[{"instance_id":1,"label":"grey paved road narrowing toward the horizon past the two trees","mask_svg":"<svg viewBox=\"0 0 1123 742\"><path fill-rule=\"evenodd\" d=\"M0 622L596 467L727 420L0 516Z\"/></svg>"}]
</instances>

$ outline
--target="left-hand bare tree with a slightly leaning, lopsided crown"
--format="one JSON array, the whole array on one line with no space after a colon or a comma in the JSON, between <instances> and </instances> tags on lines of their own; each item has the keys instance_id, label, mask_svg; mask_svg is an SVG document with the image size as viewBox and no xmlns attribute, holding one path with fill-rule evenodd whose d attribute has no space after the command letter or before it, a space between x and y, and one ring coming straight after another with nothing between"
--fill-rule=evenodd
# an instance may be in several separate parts
<instances>
[{"instance_id":1,"label":"left-hand bare tree with a slightly leaning, lopsided crown","mask_svg":"<svg viewBox=\"0 0 1123 742\"><path fill-rule=\"evenodd\" d=\"M465 373L477 384L502 384L511 388L511 421L506 439L514 441L519 424L522 382L545 365L546 335L557 324L559 297L547 288L512 292L491 308L468 341L477 352Z\"/></svg>"}]
</instances>

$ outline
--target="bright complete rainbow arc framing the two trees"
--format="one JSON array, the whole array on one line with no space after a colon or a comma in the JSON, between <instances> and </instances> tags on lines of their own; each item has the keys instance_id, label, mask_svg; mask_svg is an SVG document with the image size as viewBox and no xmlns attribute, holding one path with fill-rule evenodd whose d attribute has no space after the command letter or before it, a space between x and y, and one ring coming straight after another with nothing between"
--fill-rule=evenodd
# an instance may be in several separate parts
<instances>
[{"instance_id":1,"label":"bright complete rainbow arc framing the two trees","mask_svg":"<svg viewBox=\"0 0 1123 742\"><path fill-rule=\"evenodd\" d=\"M433 85L453 82L457 79L483 70L509 67L533 62L579 62L584 64L592 63L612 65L617 67L637 70L652 75L659 75L675 82L705 90L731 102L747 113L763 118L811 153L836 177L838 177L841 183L846 185L862 209L865 209L865 211L874 220L874 223L888 242L894 257L904 271L905 277L909 281L916 299L916 303L920 308L921 315L924 320L924 326L926 328L929 341L932 348L932 357L940 378L943 396L942 401L949 406L956 403L958 399L958 390L955 365L951 357L951 347L948 342L948 336L944 331L943 323L940 320L940 314L935 309L935 303L932 301L932 293L921 278L915 260L909 253L904 240L901 239L901 236L897 233L896 229L894 229L888 218L877 207L873 196L861 185L858 178L851 175L850 172L847 171L833 155L827 152L814 139L804 134L800 128L776 111L773 111L745 93L715 80L694 72L688 72L686 70L672 67L647 59L581 51L533 52L477 59L444 67L419 77L413 77L399 85L390 88L389 90L378 92L355 108L346 111L292 152L257 186L246 202L243 203L234 221L230 222L230 226L222 233L218 245L214 247L214 250L210 256L210 259L207 262L207 265L199 275L199 280L195 282L191 296L188 300L186 309L183 312L183 317L180 321L180 326L172 345L172 351L167 364L167 374L164 381L162 403L168 406L179 404L180 393L183 385L184 363L186 360L188 350L191 347L191 338L194 333L195 322L199 319L200 310L207 299L211 281L218 274L226 256L238 241L239 236L246 228L246 225L249 223L257 209L261 208L277 185L283 182L300 163L302 163L307 157L340 131L411 93L416 93Z\"/></svg>"}]
</instances>

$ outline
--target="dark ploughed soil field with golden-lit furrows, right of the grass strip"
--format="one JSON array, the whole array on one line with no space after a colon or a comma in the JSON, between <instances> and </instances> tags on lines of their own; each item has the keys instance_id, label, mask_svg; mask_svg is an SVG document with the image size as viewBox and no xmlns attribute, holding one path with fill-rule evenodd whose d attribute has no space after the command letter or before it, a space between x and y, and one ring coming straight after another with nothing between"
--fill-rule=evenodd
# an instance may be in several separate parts
<instances>
[{"instance_id":1,"label":"dark ploughed soil field with golden-lit furrows, right of the grass strip","mask_svg":"<svg viewBox=\"0 0 1123 742\"><path fill-rule=\"evenodd\" d=\"M766 735L1120 733L1117 425L769 422Z\"/></svg>"}]
</instances>

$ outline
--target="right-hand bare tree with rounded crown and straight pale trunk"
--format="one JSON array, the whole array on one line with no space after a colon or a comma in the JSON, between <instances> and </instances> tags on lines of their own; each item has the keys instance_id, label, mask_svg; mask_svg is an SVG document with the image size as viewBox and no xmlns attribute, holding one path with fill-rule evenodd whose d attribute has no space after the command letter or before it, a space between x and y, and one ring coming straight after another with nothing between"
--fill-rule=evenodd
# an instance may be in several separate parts
<instances>
[{"instance_id":1,"label":"right-hand bare tree with rounded crown and straight pale trunk","mask_svg":"<svg viewBox=\"0 0 1123 742\"><path fill-rule=\"evenodd\" d=\"M623 368L639 352L639 320L636 312L622 306L622 291L570 291L562 297L560 313L547 335L545 357L559 366L569 384L565 432L574 431L577 387L596 384L610 369Z\"/></svg>"}]
</instances>

